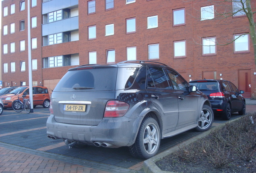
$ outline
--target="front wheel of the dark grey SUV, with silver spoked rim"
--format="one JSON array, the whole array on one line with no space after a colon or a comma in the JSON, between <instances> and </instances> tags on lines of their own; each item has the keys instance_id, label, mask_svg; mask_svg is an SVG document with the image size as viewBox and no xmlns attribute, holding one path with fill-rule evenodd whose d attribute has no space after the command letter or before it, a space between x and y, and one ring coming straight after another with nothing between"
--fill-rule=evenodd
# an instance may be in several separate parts
<instances>
[{"instance_id":1,"label":"front wheel of the dark grey SUV, with silver spoked rim","mask_svg":"<svg viewBox=\"0 0 256 173\"><path fill-rule=\"evenodd\" d=\"M208 105L203 105L196 131L207 131L213 124L213 110Z\"/></svg>"}]
</instances>

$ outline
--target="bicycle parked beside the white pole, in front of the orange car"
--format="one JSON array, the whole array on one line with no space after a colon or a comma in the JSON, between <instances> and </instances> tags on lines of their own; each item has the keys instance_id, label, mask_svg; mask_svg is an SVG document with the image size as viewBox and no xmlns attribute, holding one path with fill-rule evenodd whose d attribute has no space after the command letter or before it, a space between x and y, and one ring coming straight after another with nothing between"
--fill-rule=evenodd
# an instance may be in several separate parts
<instances>
[{"instance_id":1,"label":"bicycle parked beside the white pole, in front of the orange car","mask_svg":"<svg viewBox=\"0 0 256 173\"><path fill-rule=\"evenodd\" d=\"M23 95L23 102L20 100L19 97L19 93L21 93L20 91L18 93L16 93L15 95L18 95L18 100L15 100L12 102L12 109L16 112L21 112L23 111L23 109L25 109L25 111L27 113L30 113L31 107L30 107L30 103L29 103L29 99L25 99L26 95Z\"/></svg>"}]
</instances>

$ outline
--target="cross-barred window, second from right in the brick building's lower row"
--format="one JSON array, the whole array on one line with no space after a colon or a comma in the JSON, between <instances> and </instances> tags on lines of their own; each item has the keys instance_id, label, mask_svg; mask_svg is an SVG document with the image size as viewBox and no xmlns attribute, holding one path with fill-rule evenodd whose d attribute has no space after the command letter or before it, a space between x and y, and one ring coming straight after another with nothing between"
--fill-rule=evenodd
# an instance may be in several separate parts
<instances>
[{"instance_id":1,"label":"cross-barred window, second from right in the brick building's lower row","mask_svg":"<svg viewBox=\"0 0 256 173\"><path fill-rule=\"evenodd\" d=\"M202 38L202 55L215 55L216 54L216 38L207 37Z\"/></svg>"}]
</instances>

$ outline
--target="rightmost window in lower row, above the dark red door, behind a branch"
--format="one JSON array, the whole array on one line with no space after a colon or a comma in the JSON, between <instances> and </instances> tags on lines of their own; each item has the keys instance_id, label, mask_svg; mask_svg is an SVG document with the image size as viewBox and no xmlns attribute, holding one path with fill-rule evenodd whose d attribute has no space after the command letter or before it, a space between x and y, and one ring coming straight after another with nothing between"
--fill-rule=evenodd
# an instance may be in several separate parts
<instances>
[{"instance_id":1,"label":"rightmost window in lower row, above the dark red door, behind a branch","mask_svg":"<svg viewBox=\"0 0 256 173\"><path fill-rule=\"evenodd\" d=\"M235 40L236 39L236 40ZM234 53L249 52L249 35L234 34Z\"/></svg>"}]
</instances>

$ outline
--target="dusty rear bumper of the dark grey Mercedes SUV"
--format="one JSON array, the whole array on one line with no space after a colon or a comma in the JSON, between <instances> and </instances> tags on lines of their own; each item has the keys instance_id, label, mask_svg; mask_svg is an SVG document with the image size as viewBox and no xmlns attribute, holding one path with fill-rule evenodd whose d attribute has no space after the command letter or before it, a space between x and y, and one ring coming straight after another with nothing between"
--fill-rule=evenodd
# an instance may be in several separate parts
<instances>
[{"instance_id":1,"label":"dusty rear bumper of the dark grey Mercedes SUV","mask_svg":"<svg viewBox=\"0 0 256 173\"><path fill-rule=\"evenodd\" d=\"M115 147L130 146L134 143L136 132L134 124L138 118L103 118L97 126L58 123L54 115L47 119L47 135L57 139L80 141L89 145L94 142L107 142ZM138 129L138 127L136 127Z\"/></svg>"}]
</instances>

